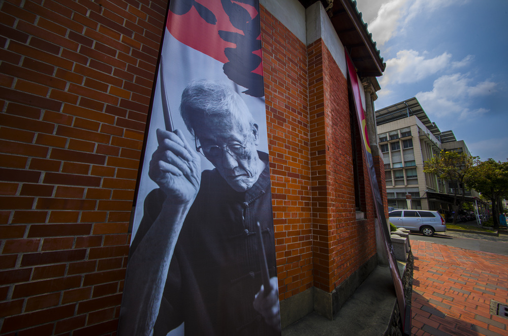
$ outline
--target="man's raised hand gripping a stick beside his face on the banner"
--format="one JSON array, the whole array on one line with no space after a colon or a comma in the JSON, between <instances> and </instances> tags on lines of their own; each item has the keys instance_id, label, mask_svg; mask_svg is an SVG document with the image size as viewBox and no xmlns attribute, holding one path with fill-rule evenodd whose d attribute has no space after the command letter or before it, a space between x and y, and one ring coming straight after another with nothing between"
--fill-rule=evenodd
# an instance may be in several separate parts
<instances>
[{"instance_id":1,"label":"man's raised hand gripping a stick beside his face on the banner","mask_svg":"<svg viewBox=\"0 0 508 336\"><path fill-rule=\"evenodd\" d=\"M182 132L157 129L158 147L150 160L148 176L175 204L194 201L201 181L201 160Z\"/></svg>"}]
</instances>

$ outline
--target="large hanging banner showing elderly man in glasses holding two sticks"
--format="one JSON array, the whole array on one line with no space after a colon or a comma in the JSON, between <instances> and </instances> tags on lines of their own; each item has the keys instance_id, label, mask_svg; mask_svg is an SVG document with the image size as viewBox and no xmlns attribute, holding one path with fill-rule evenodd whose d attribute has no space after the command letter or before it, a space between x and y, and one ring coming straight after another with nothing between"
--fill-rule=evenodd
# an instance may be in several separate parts
<instances>
[{"instance_id":1,"label":"large hanging banner showing elderly man in glasses holding two sticks","mask_svg":"<svg viewBox=\"0 0 508 336\"><path fill-rule=\"evenodd\" d=\"M172 0L118 334L280 335L258 0Z\"/></svg>"}]
</instances>

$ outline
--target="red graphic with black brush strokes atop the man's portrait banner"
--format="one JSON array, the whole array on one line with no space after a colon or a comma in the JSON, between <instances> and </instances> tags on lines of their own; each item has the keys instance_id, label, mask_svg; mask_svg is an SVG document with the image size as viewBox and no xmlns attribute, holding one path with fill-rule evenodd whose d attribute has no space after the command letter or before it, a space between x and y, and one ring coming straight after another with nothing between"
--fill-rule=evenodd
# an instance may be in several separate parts
<instances>
[{"instance_id":1,"label":"red graphic with black brush strokes atop the man's portrait banner","mask_svg":"<svg viewBox=\"0 0 508 336\"><path fill-rule=\"evenodd\" d=\"M167 28L181 43L224 63L244 93L264 96L259 11L252 0L173 2Z\"/></svg>"}]
</instances>

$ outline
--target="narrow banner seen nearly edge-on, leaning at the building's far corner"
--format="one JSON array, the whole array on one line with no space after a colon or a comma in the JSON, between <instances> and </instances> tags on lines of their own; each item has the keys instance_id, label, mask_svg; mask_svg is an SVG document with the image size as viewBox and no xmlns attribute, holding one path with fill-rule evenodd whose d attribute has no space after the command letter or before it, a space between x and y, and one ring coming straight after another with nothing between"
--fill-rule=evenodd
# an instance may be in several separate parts
<instances>
[{"instance_id":1,"label":"narrow banner seen nearly edge-on, leaning at the building's far corner","mask_svg":"<svg viewBox=\"0 0 508 336\"><path fill-rule=\"evenodd\" d=\"M377 184L376 171L374 168L374 160L372 158L372 152L370 151L369 137L367 134L367 123L365 119L365 113L362 106L362 97L360 94L360 79L356 73L355 65L351 60L350 55L345 52L347 61L347 73L348 79L351 83L351 89L353 90L353 99L355 102L356 116L358 120L358 127L360 128L360 134L362 135L362 148L369 165L369 180L370 189L374 196L374 209L377 217L377 224L379 231L383 236L385 242L385 250L388 255L388 263L390 271L392 273L393 283L395 285L395 292L397 294L397 303L400 312L400 319L403 322L404 334L410 334L411 330L411 313L410 306L405 303L404 299L404 286L402 285L402 279L400 278L399 269L397 267L397 261L393 254L392 241L390 240L390 231L388 230L388 224L385 218L385 211L383 210L383 201L381 194L379 193L379 186Z\"/></svg>"}]
</instances>

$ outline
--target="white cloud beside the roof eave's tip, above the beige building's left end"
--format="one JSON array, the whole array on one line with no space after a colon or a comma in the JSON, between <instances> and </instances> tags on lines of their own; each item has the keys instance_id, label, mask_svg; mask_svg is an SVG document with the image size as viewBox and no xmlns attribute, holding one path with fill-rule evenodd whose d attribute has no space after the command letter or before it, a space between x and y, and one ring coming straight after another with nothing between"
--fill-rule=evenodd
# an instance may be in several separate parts
<instances>
[{"instance_id":1,"label":"white cloud beside the roof eave's tip, above the beige building's left end","mask_svg":"<svg viewBox=\"0 0 508 336\"><path fill-rule=\"evenodd\" d=\"M446 69L450 65L452 55L448 52L425 58L415 50L400 50L396 58L386 61L386 70L381 77L380 85L414 83L430 75Z\"/></svg>"}]
</instances>

